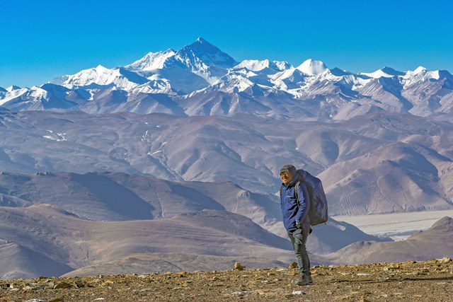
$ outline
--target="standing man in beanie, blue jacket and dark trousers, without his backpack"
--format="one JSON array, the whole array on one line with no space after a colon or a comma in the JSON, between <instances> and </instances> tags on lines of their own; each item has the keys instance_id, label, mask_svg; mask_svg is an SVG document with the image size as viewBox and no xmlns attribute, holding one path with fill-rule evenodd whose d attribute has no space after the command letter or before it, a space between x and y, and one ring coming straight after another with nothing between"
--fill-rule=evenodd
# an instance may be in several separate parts
<instances>
[{"instance_id":1,"label":"standing man in beanie, blue jacket and dark trousers, without his backpack","mask_svg":"<svg viewBox=\"0 0 453 302\"><path fill-rule=\"evenodd\" d=\"M309 194L305 185L299 182L299 173L294 165L284 165L280 169L280 205L282 207L283 223L291 240L292 248L299 264L299 280L293 281L297 285L313 283L310 274L310 260L306 252L306 238L311 231L309 218ZM299 185L297 186L297 182ZM296 187L298 187L296 192Z\"/></svg>"}]
</instances>

